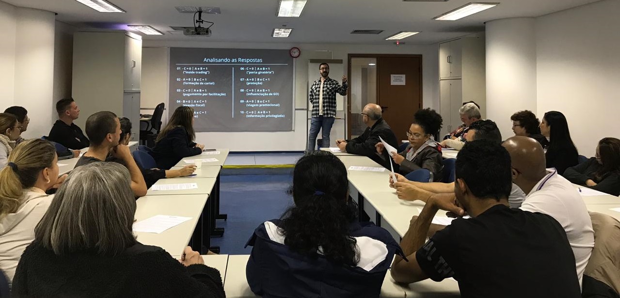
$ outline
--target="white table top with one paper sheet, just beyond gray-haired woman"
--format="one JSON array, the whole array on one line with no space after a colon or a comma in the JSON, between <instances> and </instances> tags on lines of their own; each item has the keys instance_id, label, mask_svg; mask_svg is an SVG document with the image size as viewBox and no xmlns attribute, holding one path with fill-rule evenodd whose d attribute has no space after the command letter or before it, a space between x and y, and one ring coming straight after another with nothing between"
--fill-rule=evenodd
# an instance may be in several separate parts
<instances>
[{"instance_id":1,"label":"white table top with one paper sheet, just beyond gray-haired woman","mask_svg":"<svg viewBox=\"0 0 620 298\"><path fill-rule=\"evenodd\" d=\"M135 232L137 240L146 245L164 248L172 256L179 256L192 238L198 217L205 207L208 195L143 196L136 201L136 221L156 215L192 217L165 230L161 234Z\"/></svg>"}]
</instances>

